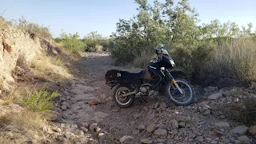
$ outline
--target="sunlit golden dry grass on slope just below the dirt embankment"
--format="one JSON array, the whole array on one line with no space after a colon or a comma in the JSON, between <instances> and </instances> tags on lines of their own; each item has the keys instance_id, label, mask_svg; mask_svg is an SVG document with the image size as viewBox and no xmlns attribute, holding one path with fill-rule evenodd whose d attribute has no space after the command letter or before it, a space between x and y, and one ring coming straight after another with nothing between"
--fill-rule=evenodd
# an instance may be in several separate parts
<instances>
[{"instance_id":1,"label":"sunlit golden dry grass on slope just below the dirt embankment","mask_svg":"<svg viewBox=\"0 0 256 144\"><path fill-rule=\"evenodd\" d=\"M31 67L34 68L36 77L45 78L49 81L73 78L60 58L41 55L34 58Z\"/></svg>"}]
</instances>

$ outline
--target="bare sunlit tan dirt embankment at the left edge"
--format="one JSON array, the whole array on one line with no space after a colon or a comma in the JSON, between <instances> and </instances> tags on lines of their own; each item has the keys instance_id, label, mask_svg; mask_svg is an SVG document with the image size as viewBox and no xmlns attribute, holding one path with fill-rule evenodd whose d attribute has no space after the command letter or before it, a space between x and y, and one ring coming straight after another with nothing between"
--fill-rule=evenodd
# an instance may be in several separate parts
<instances>
[{"instance_id":1,"label":"bare sunlit tan dirt embankment at the left edge","mask_svg":"<svg viewBox=\"0 0 256 144\"><path fill-rule=\"evenodd\" d=\"M39 38L31 38L30 34L17 30L13 26L5 26L0 30L0 89L8 90L14 82L12 72L18 62L29 64L40 54Z\"/></svg>"}]
</instances>

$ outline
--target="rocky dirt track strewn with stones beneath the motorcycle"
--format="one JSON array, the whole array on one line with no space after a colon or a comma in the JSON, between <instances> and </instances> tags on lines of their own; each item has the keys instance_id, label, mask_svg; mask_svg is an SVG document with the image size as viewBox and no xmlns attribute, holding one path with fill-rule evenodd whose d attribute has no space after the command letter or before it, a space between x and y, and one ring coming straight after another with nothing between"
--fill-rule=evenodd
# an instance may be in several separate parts
<instances>
[{"instance_id":1,"label":"rocky dirt track strewn with stones beneath the motorcycle","mask_svg":"<svg viewBox=\"0 0 256 144\"><path fill-rule=\"evenodd\" d=\"M111 65L104 53L91 53L80 63L85 78L62 87L52 118L46 127L50 143L254 143L256 126L243 126L223 114L226 103L240 102L250 93L209 86L195 86L196 101L190 106L174 106L164 96L147 102L135 101L127 109L114 106L113 90L106 86L106 70L129 67ZM243 90L244 91L244 90ZM239 95L240 94L240 95Z\"/></svg>"}]
</instances>

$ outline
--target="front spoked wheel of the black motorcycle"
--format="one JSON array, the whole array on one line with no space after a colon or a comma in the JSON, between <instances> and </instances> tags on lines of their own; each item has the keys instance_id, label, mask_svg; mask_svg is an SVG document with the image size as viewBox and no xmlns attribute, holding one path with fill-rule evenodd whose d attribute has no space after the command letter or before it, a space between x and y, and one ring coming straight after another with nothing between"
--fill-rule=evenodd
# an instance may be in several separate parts
<instances>
[{"instance_id":1,"label":"front spoked wheel of the black motorcycle","mask_svg":"<svg viewBox=\"0 0 256 144\"><path fill-rule=\"evenodd\" d=\"M182 93L178 90L174 83L169 83L166 86L166 94L170 97L170 100L178 106L187 106L194 101L194 90L185 79L177 78L175 82L178 84Z\"/></svg>"}]
</instances>

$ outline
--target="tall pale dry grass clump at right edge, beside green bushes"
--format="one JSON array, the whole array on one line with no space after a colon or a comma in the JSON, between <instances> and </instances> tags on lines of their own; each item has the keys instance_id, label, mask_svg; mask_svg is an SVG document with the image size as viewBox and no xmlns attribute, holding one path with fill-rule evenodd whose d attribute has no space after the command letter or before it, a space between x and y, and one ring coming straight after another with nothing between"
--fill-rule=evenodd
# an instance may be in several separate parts
<instances>
[{"instance_id":1,"label":"tall pale dry grass clump at right edge, beside green bushes","mask_svg":"<svg viewBox=\"0 0 256 144\"><path fill-rule=\"evenodd\" d=\"M250 38L237 38L218 46L208 71L218 78L234 78L242 82L256 80L256 44Z\"/></svg>"}]
</instances>

